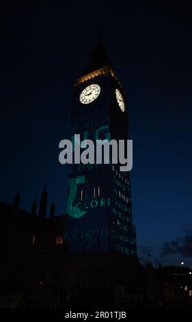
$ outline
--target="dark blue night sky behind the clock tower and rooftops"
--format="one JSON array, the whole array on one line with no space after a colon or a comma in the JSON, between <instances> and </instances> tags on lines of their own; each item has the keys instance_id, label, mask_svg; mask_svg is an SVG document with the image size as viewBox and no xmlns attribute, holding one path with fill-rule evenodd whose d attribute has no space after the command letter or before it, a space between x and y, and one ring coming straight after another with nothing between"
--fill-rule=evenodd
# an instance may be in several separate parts
<instances>
[{"instance_id":1,"label":"dark blue night sky behind the clock tower and rooftops","mask_svg":"<svg viewBox=\"0 0 192 322\"><path fill-rule=\"evenodd\" d=\"M137 4L135 4L137 2ZM144 2L144 1L143 1ZM146 1L145 1L146 2ZM192 265L192 10L175 1L74 1L0 11L0 200L20 207L47 183L66 208L72 82L100 29L129 101L131 190L141 262Z\"/></svg>"}]
</instances>

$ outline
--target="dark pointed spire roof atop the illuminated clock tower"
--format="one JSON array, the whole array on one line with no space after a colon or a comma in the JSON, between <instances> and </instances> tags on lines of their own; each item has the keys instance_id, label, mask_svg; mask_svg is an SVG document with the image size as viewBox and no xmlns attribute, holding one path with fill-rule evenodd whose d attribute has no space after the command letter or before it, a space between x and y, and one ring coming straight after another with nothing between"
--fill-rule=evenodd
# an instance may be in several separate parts
<instances>
[{"instance_id":1,"label":"dark pointed spire roof atop the illuminated clock tower","mask_svg":"<svg viewBox=\"0 0 192 322\"><path fill-rule=\"evenodd\" d=\"M99 69L103 66L111 66L111 58L107 54L107 51L105 50L105 46L102 41L102 34L100 33L98 45L96 45L96 48L92 53L90 54L90 61L87 66L87 72L94 71L96 69Z\"/></svg>"}]
</instances>

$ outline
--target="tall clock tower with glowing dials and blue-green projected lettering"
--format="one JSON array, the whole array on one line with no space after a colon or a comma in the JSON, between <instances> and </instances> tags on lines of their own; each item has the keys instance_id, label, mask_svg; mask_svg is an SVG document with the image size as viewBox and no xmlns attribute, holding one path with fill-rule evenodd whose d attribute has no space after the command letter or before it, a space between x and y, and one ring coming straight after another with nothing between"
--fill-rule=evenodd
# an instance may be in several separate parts
<instances>
[{"instance_id":1,"label":"tall clock tower with glowing dials and blue-green projected lettering","mask_svg":"<svg viewBox=\"0 0 192 322\"><path fill-rule=\"evenodd\" d=\"M73 86L72 140L127 140L124 88L101 40L87 71ZM78 144L78 142L77 142ZM65 239L70 253L122 253L136 257L128 172L119 164L70 164Z\"/></svg>"}]
</instances>

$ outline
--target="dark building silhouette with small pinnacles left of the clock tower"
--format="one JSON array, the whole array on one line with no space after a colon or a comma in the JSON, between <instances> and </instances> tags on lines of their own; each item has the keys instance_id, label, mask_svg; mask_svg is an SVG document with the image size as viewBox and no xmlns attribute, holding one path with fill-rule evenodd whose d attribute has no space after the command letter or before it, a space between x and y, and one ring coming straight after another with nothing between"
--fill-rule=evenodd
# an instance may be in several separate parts
<instances>
[{"instance_id":1,"label":"dark building silhouette with small pinnacles left of the clock tower","mask_svg":"<svg viewBox=\"0 0 192 322\"><path fill-rule=\"evenodd\" d=\"M65 271L65 216L55 216L54 201L46 215L46 187L31 212L0 202L0 308L59 306Z\"/></svg>"}]
</instances>

